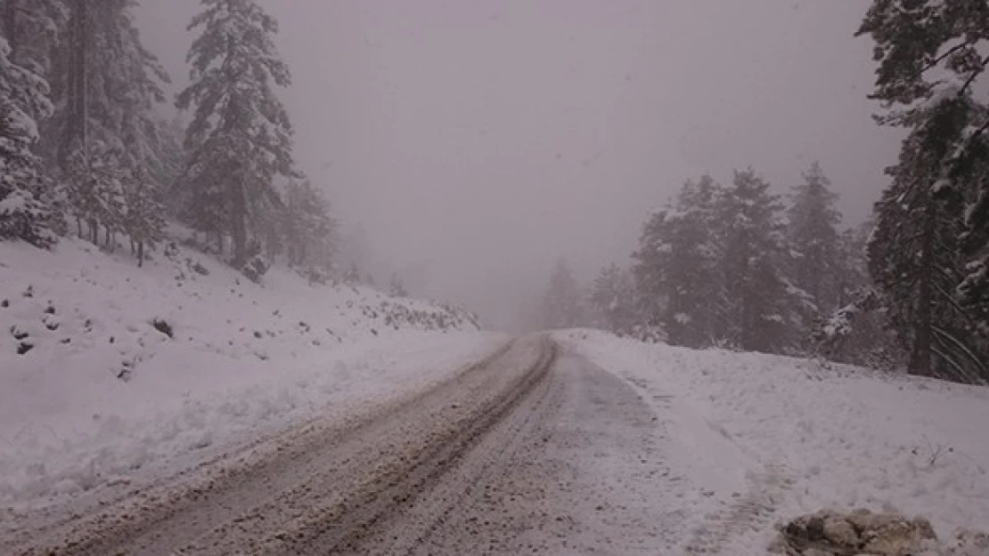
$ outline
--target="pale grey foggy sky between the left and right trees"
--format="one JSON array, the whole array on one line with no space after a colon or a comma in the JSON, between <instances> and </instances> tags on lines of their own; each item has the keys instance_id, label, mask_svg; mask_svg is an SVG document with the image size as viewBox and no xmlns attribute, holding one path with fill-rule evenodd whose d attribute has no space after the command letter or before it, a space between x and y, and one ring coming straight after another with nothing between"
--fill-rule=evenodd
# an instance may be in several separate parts
<instances>
[{"instance_id":1,"label":"pale grey foggy sky between the left and right trees","mask_svg":"<svg viewBox=\"0 0 989 556\"><path fill-rule=\"evenodd\" d=\"M899 135L866 99L868 0L269 0L301 166L413 292L512 327L567 257L625 263L687 178L820 160L851 222ZM196 0L144 0L177 86ZM381 277L387 278L387 277Z\"/></svg>"}]
</instances>

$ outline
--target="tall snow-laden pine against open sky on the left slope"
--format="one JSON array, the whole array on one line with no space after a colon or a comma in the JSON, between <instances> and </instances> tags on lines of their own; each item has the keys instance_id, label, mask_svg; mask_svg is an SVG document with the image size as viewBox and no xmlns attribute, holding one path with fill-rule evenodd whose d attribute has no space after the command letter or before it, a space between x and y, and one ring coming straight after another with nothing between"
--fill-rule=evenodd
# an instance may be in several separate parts
<instances>
[{"instance_id":1,"label":"tall snow-laden pine against open sky on the left slope","mask_svg":"<svg viewBox=\"0 0 989 556\"><path fill-rule=\"evenodd\" d=\"M277 199L276 176L296 176L292 126L274 92L291 80L272 40L278 24L254 0L203 0L203 6L189 25L201 35L188 55L191 83L176 106L193 110L185 140L188 183L197 190L193 223L227 231L232 264L240 266L248 211Z\"/></svg>"}]
</instances>

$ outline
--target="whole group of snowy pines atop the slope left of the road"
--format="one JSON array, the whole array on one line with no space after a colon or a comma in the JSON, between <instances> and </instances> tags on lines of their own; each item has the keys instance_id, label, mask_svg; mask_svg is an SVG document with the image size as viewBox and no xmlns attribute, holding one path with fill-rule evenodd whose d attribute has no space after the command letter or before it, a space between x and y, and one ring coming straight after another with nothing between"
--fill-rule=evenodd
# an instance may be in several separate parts
<instances>
[{"instance_id":1,"label":"whole group of snowy pines atop the slope left of the road","mask_svg":"<svg viewBox=\"0 0 989 556\"><path fill-rule=\"evenodd\" d=\"M139 265L175 218L235 268L328 269L335 221L293 157L276 20L254 0L203 0L169 120L135 7L0 2L0 239L113 250L126 236Z\"/></svg>"}]
</instances>

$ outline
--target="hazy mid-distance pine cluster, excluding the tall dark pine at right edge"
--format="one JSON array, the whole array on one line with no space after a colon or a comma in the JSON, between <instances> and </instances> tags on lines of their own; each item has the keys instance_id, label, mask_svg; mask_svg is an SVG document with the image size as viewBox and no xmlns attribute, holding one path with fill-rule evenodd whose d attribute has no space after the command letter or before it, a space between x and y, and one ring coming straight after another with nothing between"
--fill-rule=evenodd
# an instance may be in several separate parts
<instances>
[{"instance_id":1,"label":"hazy mid-distance pine cluster, excluding the tall dark pine at right edge","mask_svg":"<svg viewBox=\"0 0 989 556\"><path fill-rule=\"evenodd\" d=\"M735 172L727 186L710 176L689 180L649 215L627 266L605 267L582 292L560 286L573 278L558 263L545 324L690 348L809 355L827 345L840 348L831 357L889 360L897 354L879 341L878 323L868 331L875 342L832 342L846 336L834 315L869 284L868 225L843 229L837 201L816 163L788 196L772 193L752 169ZM561 305L569 320L552 310Z\"/></svg>"}]
</instances>

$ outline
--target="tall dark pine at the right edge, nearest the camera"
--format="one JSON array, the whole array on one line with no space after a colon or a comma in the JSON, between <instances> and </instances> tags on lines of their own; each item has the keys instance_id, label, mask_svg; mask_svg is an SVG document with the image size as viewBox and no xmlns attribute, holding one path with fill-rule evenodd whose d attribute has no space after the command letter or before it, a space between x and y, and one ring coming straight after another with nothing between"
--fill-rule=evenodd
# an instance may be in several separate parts
<instances>
[{"instance_id":1,"label":"tall dark pine at the right edge, nearest the camera","mask_svg":"<svg viewBox=\"0 0 989 556\"><path fill-rule=\"evenodd\" d=\"M989 118L974 90L987 22L981 1L874 0L858 31L876 43L880 122L911 130L877 204L871 269L911 372L963 381L989 377Z\"/></svg>"}]
</instances>

